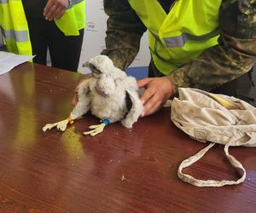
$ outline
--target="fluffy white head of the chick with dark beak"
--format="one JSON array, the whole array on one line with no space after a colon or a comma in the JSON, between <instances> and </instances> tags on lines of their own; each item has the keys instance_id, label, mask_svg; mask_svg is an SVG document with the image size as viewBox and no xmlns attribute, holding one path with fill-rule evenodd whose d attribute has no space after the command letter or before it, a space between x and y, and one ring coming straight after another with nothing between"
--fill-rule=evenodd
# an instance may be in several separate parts
<instances>
[{"instance_id":1,"label":"fluffy white head of the chick with dark beak","mask_svg":"<svg viewBox=\"0 0 256 213\"><path fill-rule=\"evenodd\" d=\"M99 78L102 74L111 73L114 68L113 61L106 55L96 55L85 62L83 66L88 67L96 78Z\"/></svg>"}]
</instances>

